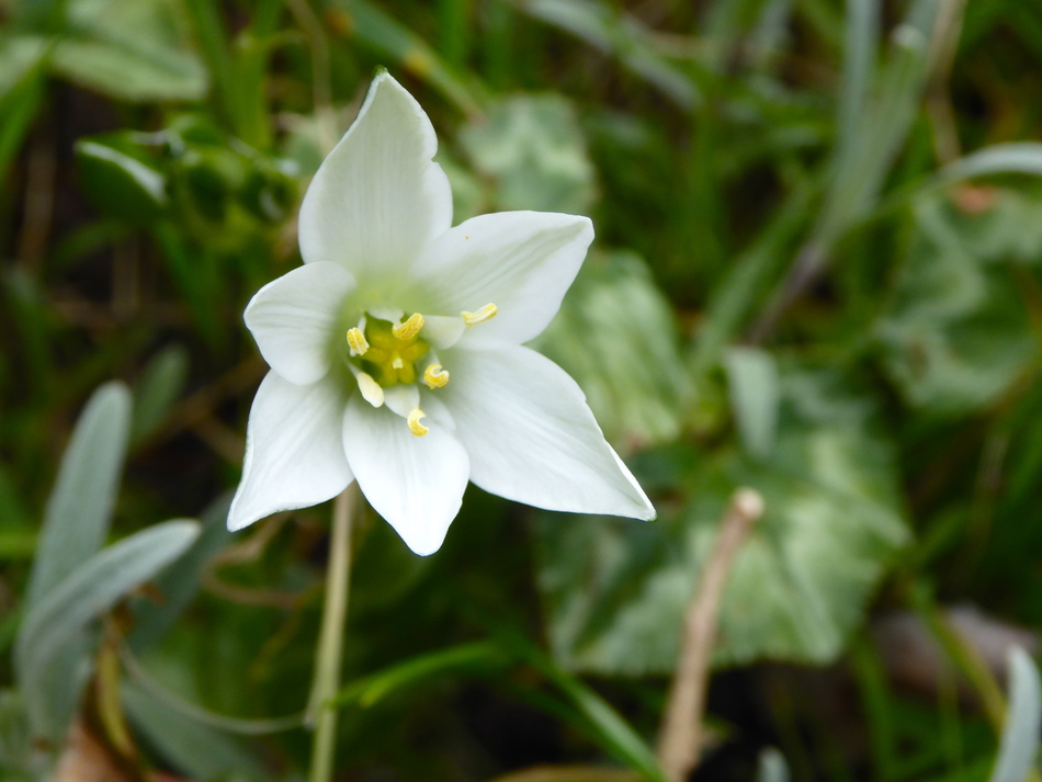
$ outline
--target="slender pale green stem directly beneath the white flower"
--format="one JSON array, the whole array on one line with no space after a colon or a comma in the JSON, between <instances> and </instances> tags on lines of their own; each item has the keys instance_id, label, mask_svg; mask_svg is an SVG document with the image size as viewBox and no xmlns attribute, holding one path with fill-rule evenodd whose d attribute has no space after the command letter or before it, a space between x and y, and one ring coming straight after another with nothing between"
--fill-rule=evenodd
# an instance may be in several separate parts
<instances>
[{"instance_id":1,"label":"slender pale green stem directly beneath the white flower","mask_svg":"<svg viewBox=\"0 0 1042 782\"><path fill-rule=\"evenodd\" d=\"M329 782L332 778L337 745L337 707L330 702L340 689L343 657L343 631L348 619L348 587L351 576L351 506L354 486L344 489L333 505L332 534L329 539L329 568L322 625L315 656L315 679L308 702L308 722L315 727L312 744L309 782Z\"/></svg>"}]
</instances>

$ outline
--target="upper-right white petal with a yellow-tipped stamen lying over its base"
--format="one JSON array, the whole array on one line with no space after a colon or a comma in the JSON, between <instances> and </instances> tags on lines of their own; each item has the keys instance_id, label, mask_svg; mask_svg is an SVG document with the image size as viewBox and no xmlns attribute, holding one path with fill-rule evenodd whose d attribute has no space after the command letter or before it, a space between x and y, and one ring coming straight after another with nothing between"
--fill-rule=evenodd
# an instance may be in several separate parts
<instances>
[{"instance_id":1,"label":"upper-right white petal with a yellow-tipped stamen lying over its base","mask_svg":"<svg viewBox=\"0 0 1042 782\"><path fill-rule=\"evenodd\" d=\"M557 310L593 240L587 217L501 212L472 217L434 239L416 265L424 314L495 304L498 315L464 336L471 347L536 337Z\"/></svg>"}]
</instances>

